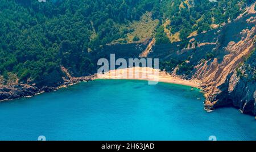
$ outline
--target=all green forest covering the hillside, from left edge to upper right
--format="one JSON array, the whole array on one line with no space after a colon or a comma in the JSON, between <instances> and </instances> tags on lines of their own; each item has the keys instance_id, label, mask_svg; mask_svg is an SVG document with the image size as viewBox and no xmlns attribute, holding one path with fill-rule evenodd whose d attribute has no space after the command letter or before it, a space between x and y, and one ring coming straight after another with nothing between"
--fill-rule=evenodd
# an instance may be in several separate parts
<instances>
[{"instance_id":1,"label":"all green forest covering the hillside, from left edge to upper right","mask_svg":"<svg viewBox=\"0 0 256 152\"><path fill-rule=\"evenodd\" d=\"M162 26L170 19L168 30L179 32L185 45L190 33L207 31L211 24L236 18L246 3L249 1L1 0L0 75L6 81L18 78L44 85L59 81L60 66L75 76L92 74L102 48L125 39L131 32L129 25L147 11L160 21L155 27L157 44L170 43ZM133 41L138 40L139 36L133 37ZM168 63L165 66L173 68ZM191 70L184 63L180 68Z\"/></svg>"}]
</instances>

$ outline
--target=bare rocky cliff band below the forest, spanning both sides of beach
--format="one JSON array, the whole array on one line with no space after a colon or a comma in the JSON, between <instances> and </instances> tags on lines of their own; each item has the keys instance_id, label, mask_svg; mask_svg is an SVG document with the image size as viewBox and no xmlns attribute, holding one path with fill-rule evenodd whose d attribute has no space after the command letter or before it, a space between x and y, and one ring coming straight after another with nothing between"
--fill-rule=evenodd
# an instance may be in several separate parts
<instances>
[{"instance_id":1,"label":"bare rocky cliff band below the forest, spanning both sides of beach","mask_svg":"<svg viewBox=\"0 0 256 152\"><path fill-rule=\"evenodd\" d=\"M201 87L206 96L205 108L232 105L243 113L256 115L255 4L227 24L191 35L185 47L181 41L155 44L152 37L144 43L105 45L91 59L97 65L99 58L109 58L110 53L114 53L116 58L159 58L162 70L203 82ZM4 84L0 78L0 100L33 96L43 91L56 90L62 85L89 81L93 77L77 76L75 70L62 66L56 73L44 79L48 83L43 85L29 82Z\"/></svg>"}]
</instances>

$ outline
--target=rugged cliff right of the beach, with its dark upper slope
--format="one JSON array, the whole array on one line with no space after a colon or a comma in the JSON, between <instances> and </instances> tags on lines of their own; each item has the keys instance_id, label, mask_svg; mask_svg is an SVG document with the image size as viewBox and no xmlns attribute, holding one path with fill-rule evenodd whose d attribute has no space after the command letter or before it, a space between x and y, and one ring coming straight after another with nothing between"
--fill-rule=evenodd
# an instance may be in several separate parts
<instances>
[{"instance_id":1,"label":"rugged cliff right of the beach, with its dark upper slope","mask_svg":"<svg viewBox=\"0 0 256 152\"><path fill-rule=\"evenodd\" d=\"M251 55L256 47L254 6L255 3L247 7L245 13L233 22L189 37L189 45L183 49L179 48L180 42L154 45L148 57L159 58L160 61L173 61L171 59L175 58L193 66L193 71L185 78L203 81L206 109L232 105L243 113L256 115L256 84L255 79L251 81L255 73L250 71L255 69L255 56ZM212 57L207 58L206 54ZM239 68L246 77L238 73ZM174 69L172 73L183 74L177 73L179 65Z\"/></svg>"}]
</instances>

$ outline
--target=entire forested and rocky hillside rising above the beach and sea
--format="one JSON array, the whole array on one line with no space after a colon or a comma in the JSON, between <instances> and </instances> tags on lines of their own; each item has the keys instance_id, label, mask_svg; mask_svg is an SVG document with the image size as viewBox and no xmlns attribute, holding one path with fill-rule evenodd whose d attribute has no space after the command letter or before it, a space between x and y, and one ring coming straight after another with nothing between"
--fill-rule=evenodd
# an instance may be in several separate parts
<instances>
[{"instance_id":1,"label":"entire forested and rocky hillside rising above the beach and sea","mask_svg":"<svg viewBox=\"0 0 256 152\"><path fill-rule=\"evenodd\" d=\"M2 0L0 12L0 100L88 80L115 53L203 81L208 109L256 115L255 1Z\"/></svg>"}]
</instances>

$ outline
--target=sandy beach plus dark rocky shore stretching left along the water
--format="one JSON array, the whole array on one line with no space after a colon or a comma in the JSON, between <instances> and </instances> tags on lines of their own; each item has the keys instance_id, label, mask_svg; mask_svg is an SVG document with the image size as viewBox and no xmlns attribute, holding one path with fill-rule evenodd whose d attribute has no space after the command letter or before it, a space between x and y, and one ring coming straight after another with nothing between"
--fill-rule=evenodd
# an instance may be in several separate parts
<instances>
[{"instance_id":1,"label":"sandy beach plus dark rocky shore stretching left along the water","mask_svg":"<svg viewBox=\"0 0 256 152\"><path fill-rule=\"evenodd\" d=\"M132 74L129 75L129 72ZM155 73L156 75L155 75ZM127 77L123 77L123 74L126 73ZM143 77L144 76L144 77ZM146 76L146 77L145 77ZM156 70L150 67L130 67L126 69L117 69L110 70L105 74L93 74L86 77L70 77L65 79L64 83L57 87L43 87L37 88L35 86L30 86L27 84L16 84L16 87L11 86L2 86L2 88L7 88L8 92L0 92L0 95L3 94L7 96L6 98L0 100L0 102L10 101L20 98L31 98L32 96L42 94L44 92L57 91L60 88L76 85L79 82L89 82L96 79L136 79L143 81L155 81L155 82L164 82L164 83L174 83L177 85L191 86L201 89L201 82L196 79L186 80L176 75L168 74L164 71ZM156 81L157 80L157 81Z\"/></svg>"}]
</instances>

